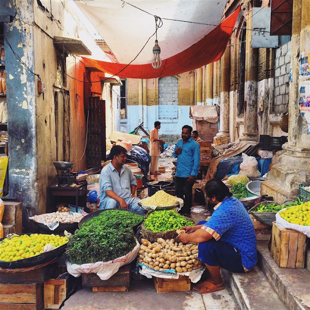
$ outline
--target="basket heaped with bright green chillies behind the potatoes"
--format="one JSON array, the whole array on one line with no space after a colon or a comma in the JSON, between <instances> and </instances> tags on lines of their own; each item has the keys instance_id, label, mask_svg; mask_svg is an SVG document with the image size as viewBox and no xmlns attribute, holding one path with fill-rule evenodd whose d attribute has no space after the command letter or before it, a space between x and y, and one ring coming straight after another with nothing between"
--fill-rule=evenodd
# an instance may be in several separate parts
<instances>
[{"instance_id":1,"label":"basket heaped with bright green chillies behind the potatoes","mask_svg":"<svg viewBox=\"0 0 310 310\"><path fill-rule=\"evenodd\" d=\"M141 236L151 242L158 238L176 238L177 230L184 226L194 226L189 217L184 217L174 210L159 210L150 212L141 225Z\"/></svg>"}]
</instances>

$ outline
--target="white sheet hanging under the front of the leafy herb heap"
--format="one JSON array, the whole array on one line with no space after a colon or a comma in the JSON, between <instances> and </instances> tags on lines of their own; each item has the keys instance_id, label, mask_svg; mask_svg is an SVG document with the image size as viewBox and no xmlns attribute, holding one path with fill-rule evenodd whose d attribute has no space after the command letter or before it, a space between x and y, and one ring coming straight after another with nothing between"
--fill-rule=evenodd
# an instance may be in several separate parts
<instances>
[{"instance_id":1,"label":"white sheet hanging under the front of the leafy herb heap","mask_svg":"<svg viewBox=\"0 0 310 310\"><path fill-rule=\"evenodd\" d=\"M132 251L125 256L116 258L109 262L97 262L97 263L83 263L78 265L66 262L67 270L70 275L78 278L82 273L95 273L101 280L108 280L114 274L116 274L120 267L131 263L138 255L140 250L140 243L136 240L137 244Z\"/></svg>"}]
</instances>

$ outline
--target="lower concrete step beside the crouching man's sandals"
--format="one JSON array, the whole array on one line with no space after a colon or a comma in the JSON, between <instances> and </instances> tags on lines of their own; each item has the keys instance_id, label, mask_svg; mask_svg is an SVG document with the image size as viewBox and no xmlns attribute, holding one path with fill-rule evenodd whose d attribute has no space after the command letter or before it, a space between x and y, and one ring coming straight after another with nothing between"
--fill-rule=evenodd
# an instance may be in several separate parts
<instances>
[{"instance_id":1,"label":"lower concrete step beside the crouching man's sandals","mask_svg":"<svg viewBox=\"0 0 310 310\"><path fill-rule=\"evenodd\" d=\"M289 310L258 266L246 274L230 273L224 269L222 274L230 282L242 310Z\"/></svg>"}]
</instances>

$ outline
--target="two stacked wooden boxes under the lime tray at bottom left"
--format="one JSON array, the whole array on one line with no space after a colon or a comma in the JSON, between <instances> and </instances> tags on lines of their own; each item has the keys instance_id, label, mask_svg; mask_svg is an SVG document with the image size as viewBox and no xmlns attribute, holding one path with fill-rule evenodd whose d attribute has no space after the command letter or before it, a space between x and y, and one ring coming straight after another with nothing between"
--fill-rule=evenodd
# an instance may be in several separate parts
<instances>
[{"instance_id":1,"label":"two stacked wooden boxes under the lime tray at bottom left","mask_svg":"<svg viewBox=\"0 0 310 310\"><path fill-rule=\"evenodd\" d=\"M52 263L29 271L0 270L0 309L44 309L44 282L54 276L56 267Z\"/></svg>"}]
</instances>

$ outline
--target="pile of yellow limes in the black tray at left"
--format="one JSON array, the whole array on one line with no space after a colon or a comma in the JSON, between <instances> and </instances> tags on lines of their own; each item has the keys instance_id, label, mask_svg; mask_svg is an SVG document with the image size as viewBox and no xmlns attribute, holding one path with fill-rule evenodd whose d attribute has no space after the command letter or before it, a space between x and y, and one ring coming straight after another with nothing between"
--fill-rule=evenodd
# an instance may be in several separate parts
<instances>
[{"instance_id":1,"label":"pile of yellow limes in the black tray at left","mask_svg":"<svg viewBox=\"0 0 310 310\"><path fill-rule=\"evenodd\" d=\"M68 242L67 237L51 234L31 233L31 235L4 238L0 243L0 261L14 262L39 255L49 243L53 247L61 247Z\"/></svg>"}]
</instances>

